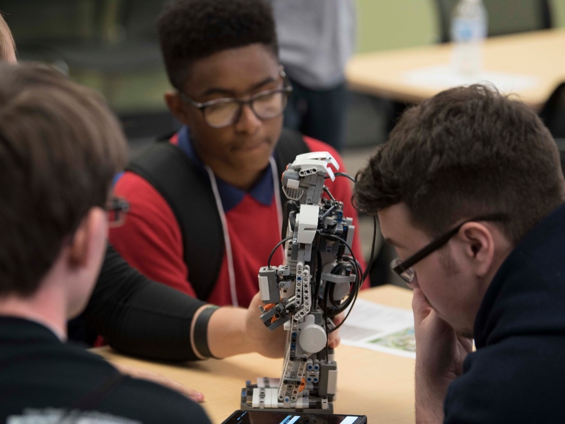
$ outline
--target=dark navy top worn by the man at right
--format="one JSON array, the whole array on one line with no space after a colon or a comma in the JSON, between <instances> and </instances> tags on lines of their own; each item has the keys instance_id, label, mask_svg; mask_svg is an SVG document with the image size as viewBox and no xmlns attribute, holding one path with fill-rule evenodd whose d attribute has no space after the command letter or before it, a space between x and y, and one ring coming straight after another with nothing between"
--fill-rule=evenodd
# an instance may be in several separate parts
<instances>
[{"instance_id":1,"label":"dark navy top worn by the man at right","mask_svg":"<svg viewBox=\"0 0 565 424\"><path fill-rule=\"evenodd\" d=\"M446 423L565 422L565 204L503 262L474 335Z\"/></svg>"}]
</instances>

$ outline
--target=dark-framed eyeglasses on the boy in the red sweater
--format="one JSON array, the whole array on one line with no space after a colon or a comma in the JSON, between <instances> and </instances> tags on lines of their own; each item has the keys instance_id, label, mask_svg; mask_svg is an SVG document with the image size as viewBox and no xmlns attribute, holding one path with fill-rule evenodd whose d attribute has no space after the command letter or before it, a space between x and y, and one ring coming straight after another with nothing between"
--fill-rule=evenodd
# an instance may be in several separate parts
<instances>
[{"instance_id":1,"label":"dark-framed eyeglasses on the boy in the red sweater","mask_svg":"<svg viewBox=\"0 0 565 424\"><path fill-rule=\"evenodd\" d=\"M292 92L292 87L285 73L281 71L280 76L284 80L284 86L282 88L254 94L247 100L220 98L209 102L198 103L181 91L179 91L179 96L185 102L200 109L205 122L212 128L229 127L236 123L238 119L240 119L241 110L244 105L249 105L257 118L261 120L271 119L282 115L286 109L288 95Z\"/></svg>"}]
</instances>

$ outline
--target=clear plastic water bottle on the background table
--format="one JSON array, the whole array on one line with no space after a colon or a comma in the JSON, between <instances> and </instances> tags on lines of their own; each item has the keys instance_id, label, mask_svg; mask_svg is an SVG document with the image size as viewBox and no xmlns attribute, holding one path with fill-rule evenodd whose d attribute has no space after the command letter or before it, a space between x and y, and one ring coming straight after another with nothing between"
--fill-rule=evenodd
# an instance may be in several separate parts
<instances>
[{"instance_id":1,"label":"clear plastic water bottle on the background table","mask_svg":"<svg viewBox=\"0 0 565 424\"><path fill-rule=\"evenodd\" d=\"M456 72L472 76L483 67L483 41L488 28L481 0L459 0L451 14L452 62Z\"/></svg>"}]
</instances>

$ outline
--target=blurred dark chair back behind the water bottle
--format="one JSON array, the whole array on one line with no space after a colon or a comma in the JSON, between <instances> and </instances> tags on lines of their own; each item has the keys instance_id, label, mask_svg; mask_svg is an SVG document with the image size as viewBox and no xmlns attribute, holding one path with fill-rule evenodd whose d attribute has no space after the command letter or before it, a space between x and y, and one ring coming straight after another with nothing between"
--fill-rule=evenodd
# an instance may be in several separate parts
<instances>
[{"instance_id":1,"label":"blurred dark chair back behind the water bottle","mask_svg":"<svg viewBox=\"0 0 565 424\"><path fill-rule=\"evenodd\" d=\"M440 42L450 41L451 10L458 0L435 0ZM488 36L552 27L548 0L483 0L488 13Z\"/></svg>"}]
</instances>

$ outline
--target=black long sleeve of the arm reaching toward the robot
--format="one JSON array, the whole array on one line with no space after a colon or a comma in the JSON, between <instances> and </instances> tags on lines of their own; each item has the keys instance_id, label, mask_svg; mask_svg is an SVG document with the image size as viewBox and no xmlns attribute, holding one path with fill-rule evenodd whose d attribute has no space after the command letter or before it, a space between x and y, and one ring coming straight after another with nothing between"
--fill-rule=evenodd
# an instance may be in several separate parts
<instances>
[{"instance_id":1,"label":"black long sleeve of the arm reaching toward the robot","mask_svg":"<svg viewBox=\"0 0 565 424\"><path fill-rule=\"evenodd\" d=\"M195 311L206 304L141 275L108 245L82 316L120 352L167 361L197 360L190 344Z\"/></svg>"}]
</instances>

